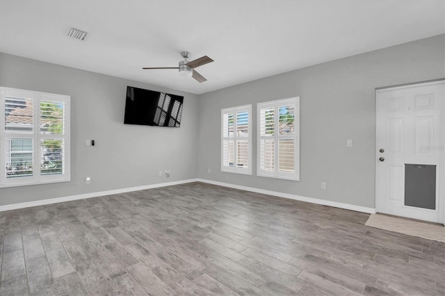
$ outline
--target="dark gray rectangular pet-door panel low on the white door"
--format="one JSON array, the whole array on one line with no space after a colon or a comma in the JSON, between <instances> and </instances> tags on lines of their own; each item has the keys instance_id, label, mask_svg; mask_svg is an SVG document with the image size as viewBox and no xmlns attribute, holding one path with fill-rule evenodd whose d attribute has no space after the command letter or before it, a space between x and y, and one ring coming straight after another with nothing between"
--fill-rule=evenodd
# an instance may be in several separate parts
<instances>
[{"instance_id":1,"label":"dark gray rectangular pet-door panel low on the white door","mask_svg":"<svg viewBox=\"0 0 445 296\"><path fill-rule=\"evenodd\" d=\"M405 206L436 209L436 165L405 163Z\"/></svg>"}]
</instances>

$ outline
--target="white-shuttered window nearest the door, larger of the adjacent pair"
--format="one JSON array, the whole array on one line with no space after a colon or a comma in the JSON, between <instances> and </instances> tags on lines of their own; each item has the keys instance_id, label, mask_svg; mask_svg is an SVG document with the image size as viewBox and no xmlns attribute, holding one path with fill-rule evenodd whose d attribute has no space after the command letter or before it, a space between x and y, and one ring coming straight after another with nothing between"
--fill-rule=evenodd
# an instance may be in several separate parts
<instances>
[{"instance_id":1,"label":"white-shuttered window nearest the door, larger of the adjacent pair","mask_svg":"<svg viewBox=\"0 0 445 296\"><path fill-rule=\"evenodd\" d=\"M300 180L300 98L259 103L257 175Z\"/></svg>"}]
</instances>

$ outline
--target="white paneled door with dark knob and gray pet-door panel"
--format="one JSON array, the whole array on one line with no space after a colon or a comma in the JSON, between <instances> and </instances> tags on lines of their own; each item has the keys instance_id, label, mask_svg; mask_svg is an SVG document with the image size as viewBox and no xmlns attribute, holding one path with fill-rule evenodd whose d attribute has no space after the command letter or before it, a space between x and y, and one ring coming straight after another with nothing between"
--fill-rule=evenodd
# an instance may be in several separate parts
<instances>
[{"instance_id":1,"label":"white paneled door with dark knob and gray pet-door panel","mask_svg":"<svg viewBox=\"0 0 445 296\"><path fill-rule=\"evenodd\" d=\"M377 212L431 222L445 213L445 81L405 85L376 91L375 208ZM419 167L423 171L410 171ZM417 165L417 166L413 166ZM436 165L435 180L427 176ZM429 172L433 167L428 167ZM405 184L405 170L407 180ZM414 172L414 173L413 173ZM419 174L419 175L417 175ZM431 176L431 174L429 175ZM423 183L422 183L423 182ZM426 185L426 184L429 185ZM435 190L432 189L435 183ZM405 192L405 186L411 188ZM414 190L412 189L414 186ZM430 186L430 206L413 206L413 192ZM405 195L406 193L406 195ZM432 193L432 194L431 194ZM423 193L416 193L422 199ZM427 195L425 193L425 195ZM432 206L431 206L432 205Z\"/></svg>"}]
</instances>

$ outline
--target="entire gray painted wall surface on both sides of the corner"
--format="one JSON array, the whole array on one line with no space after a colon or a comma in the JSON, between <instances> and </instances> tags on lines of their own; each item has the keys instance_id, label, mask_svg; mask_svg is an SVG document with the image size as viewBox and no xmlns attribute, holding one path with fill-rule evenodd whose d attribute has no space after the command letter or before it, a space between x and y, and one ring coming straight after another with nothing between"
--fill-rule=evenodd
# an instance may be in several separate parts
<instances>
[{"instance_id":1,"label":"entire gray painted wall surface on both sides of the corner","mask_svg":"<svg viewBox=\"0 0 445 296\"><path fill-rule=\"evenodd\" d=\"M0 206L200 177L373 208L375 88L443 78L444 44L439 35L199 97L0 53L1 86L72 97L72 181L0 189ZM122 124L127 85L184 95L181 128ZM257 177L256 161L252 176L220 172L220 109L253 104L255 131L258 102L294 96L301 103L300 181ZM97 145L87 147L86 139ZM254 133L253 160L256 141ZM158 176L165 169L168 179Z\"/></svg>"}]
</instances>

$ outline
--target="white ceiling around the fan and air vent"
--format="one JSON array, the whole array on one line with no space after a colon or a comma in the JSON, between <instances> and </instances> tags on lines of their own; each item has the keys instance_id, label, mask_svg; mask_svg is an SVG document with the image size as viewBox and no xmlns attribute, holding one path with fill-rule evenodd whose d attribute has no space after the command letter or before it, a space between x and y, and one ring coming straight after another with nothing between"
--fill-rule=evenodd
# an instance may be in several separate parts
<instances>
[{"instance_id":1,"label":"white ceiling around the fan and air vent","mask_svg":"<svg viewBox=\"0 0 445 296\"><path fill-rule=\"evenodd\" d=\"M202 94L445 33L444 3L0 0L0 51ZM208 81L141 69L177 67L184 50L215 60L197 68Z\"/></svg>"}]
</instances>

